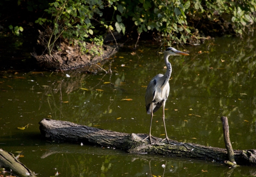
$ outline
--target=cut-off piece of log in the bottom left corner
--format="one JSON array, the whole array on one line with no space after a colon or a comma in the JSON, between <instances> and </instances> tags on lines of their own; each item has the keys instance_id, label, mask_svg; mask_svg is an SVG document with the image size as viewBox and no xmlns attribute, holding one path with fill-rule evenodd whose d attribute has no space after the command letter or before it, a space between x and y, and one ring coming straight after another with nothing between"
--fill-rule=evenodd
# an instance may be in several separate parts
<instances>
[{"instance_id":1,"label":"cut-off piece of log in the bottom left corner","mask_svg":"<svg viewBox=\"0 0 256 177\"><path fill-rule=\"evenodd\" d=\"M12 173L19 177L36 177L34 172L26 168L25 165L20 163L12 153L6 152L0 148L0 167L6 168L6 170L10 171L12 169Z\"/></svg>"}]
</instances>

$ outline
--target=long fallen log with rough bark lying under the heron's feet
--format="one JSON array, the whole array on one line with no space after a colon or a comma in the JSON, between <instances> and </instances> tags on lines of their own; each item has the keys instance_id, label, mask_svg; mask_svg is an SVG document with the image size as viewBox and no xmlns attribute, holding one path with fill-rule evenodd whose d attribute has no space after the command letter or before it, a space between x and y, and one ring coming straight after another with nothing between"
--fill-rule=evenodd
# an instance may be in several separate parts
<instances>
[{"instance_id":1,"label":"long fallen log with rough bark lying under the heron's feet","mask_svg":"<svg viewBox=\"0 0 256 177\"><path fill-rule=\"evenodd\" d=\"M227 150L223 148L180 143L175 140L166 144L157 137L151 145L149 140L141 141L147 134L127 134L60 120L43 119L39 124L43 137L55 141L90 143L119 148L128 153L136 154L163 154L216 161L228 160ZM256 150L234 150L234 154L237 164L256 166Z\"/></svg>"}]
</instances>

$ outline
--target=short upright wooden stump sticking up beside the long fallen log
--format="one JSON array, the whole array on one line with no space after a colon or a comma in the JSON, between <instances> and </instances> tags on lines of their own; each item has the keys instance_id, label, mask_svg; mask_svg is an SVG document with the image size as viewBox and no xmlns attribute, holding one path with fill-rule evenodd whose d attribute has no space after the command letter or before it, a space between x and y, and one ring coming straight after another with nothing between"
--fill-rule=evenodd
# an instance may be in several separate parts
<instances>
[{"instance_id":1,"label":"short upright wooden stump sticking up beside the long fallen log","mask_svg":"<svg viewBox=\"0 0 256 177\"><path fill-rule=\"evenodd\" d=\"M223 128L223 134L224 134L224 142L225 142L225 146L227 148L228 159L230 162L234 163L235 156L234 156L234 151L233 151L233 148L232 148L232 145L230 142L227 117L221 117L221 121L222 121L222 128Z\"/></svg>"}]
</instances>

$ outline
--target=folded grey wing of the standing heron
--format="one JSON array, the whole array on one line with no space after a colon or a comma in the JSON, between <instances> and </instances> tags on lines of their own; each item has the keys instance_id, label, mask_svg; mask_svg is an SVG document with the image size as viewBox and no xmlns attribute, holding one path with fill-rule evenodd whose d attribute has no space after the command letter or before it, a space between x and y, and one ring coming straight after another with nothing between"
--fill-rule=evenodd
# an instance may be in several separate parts
<instances>
[{"instance_id":1,"label":"folded grey wing of the standing heron","mask_svg":"<svg viewBox=\"0 0 256 177\"><path fill-rule=\"evenodd\" d=\"M146 111L148 114L151 113L151 103L154 101L155 95L156 95L156 85L157 80L159 80L160 77L162 77L163 74L157 74L153 79L149 82L146 94L145 94L145 103L146 103ZM162 106L162 103L154 103L153 104L153 113L157 111Z\"/></svg>"}]
</instances>

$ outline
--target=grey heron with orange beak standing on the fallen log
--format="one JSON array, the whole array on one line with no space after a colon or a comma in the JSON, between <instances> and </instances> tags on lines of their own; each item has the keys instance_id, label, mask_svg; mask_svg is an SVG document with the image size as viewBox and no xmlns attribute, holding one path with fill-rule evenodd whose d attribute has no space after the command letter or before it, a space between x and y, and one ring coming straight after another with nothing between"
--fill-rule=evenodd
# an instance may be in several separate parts
<instances>
[{"instance_id":1,"label":"grey heron with orange beak standing on the fallen log","mask_svg":"<svg viewBox=\"0 0 256 177\"><path fill-rule=\"evenodd\" d=\"M164 63L166 64L166 73L165 74L157 74L153 79L149 82L146 94L145 94L145 103L146 103L146 111L148 114L151 114L151 122L150 122L150 130L148 136L145 138L147 139L149 137L150 143L152 144L151 140L151 125L152 125L152 119L153 119L153 113L156 112L161 106L163 106L163 125L165 129L166 138L163 139L167 140L169 142L169 138L166 133L166 126L164 122L164 106L166 103L166 100L169 96L170 86L169 86L169 78L171 77L172 73L172 65L168 61L168 57L170 55L189 55L185 52L178 51L172 47L167 48L163 52L163 59ZM145 140L143 139L143 140Z\"/></svg>"}]
</instances>

